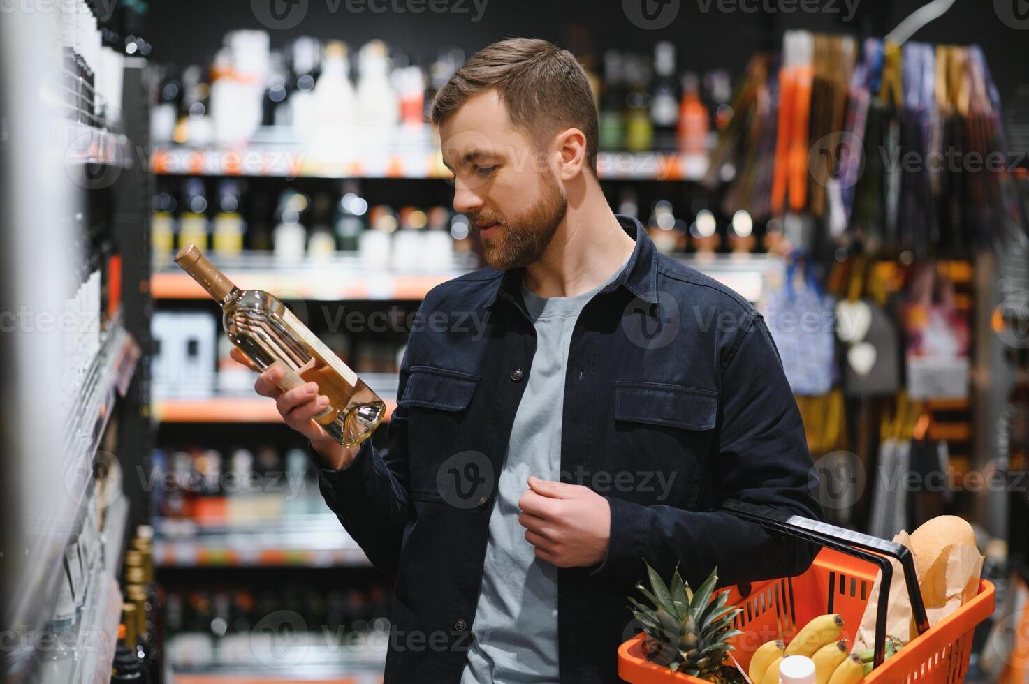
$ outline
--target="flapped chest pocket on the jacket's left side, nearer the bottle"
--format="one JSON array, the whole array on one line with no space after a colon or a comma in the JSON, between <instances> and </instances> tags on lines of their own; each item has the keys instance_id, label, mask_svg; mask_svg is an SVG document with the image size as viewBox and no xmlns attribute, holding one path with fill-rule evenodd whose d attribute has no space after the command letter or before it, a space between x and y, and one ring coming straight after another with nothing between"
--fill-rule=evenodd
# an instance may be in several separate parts
<instances>
[{"instance_id":1,"label":"flapped chest pocket on the jacket's left side, nearer the bottle","mask_svg":"<svg viewBox=\"0 0 1029 684\"><path fill-rule=\"evenodd\" d=\"M458 451L478 380L478 375L460 370L412 366L397 404L407 412L407 491L413 499L443 501L440 469Z\"/></svg>"}]
</instances>

